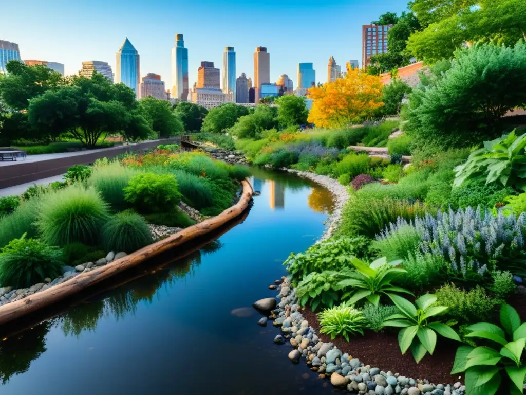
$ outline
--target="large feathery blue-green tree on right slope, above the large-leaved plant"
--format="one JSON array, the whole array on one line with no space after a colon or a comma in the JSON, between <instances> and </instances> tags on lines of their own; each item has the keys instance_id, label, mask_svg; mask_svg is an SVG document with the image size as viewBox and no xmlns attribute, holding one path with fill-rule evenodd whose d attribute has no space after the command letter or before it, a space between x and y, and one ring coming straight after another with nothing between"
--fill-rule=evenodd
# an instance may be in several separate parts
<instances>
[{"instance_id":1,"label":"large feathery blue-green tree on right slope, above the large-leaved plant","mask_svg":"<svg viewBox=\"0 0 526 395\"><path fill-rule=\"evenodd\" d=\"M444 68L446 68L444 64ZM409 97L406 129L417 145L469 146L501 133L501 117L526 103L526 44L477 44Z\"/></svg>"}]
</instances>

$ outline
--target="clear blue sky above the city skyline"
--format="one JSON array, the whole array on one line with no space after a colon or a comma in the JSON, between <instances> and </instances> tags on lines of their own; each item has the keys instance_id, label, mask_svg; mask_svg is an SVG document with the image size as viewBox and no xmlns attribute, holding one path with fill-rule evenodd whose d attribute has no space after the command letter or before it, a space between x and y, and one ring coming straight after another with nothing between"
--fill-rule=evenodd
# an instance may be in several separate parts
<instances>
[{"instance_id":1,"label":"clear blue sky above the city skyline","mask_svg":"<svg viewBox=\"0 0 526 395\"><path fill-rule=\"evenodd\" d=\"M201 61L222 68L225 46L236 50L236 74L254 74L254 48L270 53L270 80L312 62L327 81L329 56L345 68L361 63L361 25L387 11L406 11L407 0L16 0L2 5L0 40L19 44L22 59L63 63L75 74L83 61L112 65L127 36L140 54L140 73L160 74L171 88L175 34L188 48L189 85ZM7 17L6 17L7 16ZM222 77L222 76L221 76Z\"/></svg>"}]
</instances>

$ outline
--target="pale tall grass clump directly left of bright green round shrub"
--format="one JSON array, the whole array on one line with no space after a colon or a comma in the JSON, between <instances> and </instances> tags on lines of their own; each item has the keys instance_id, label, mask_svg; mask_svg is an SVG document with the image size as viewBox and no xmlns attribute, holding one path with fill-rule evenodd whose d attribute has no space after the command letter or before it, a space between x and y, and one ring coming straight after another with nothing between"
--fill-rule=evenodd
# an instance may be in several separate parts
<instances>
[{"instance_id":1,"label":"pale tall grass clump directly left of bright green round shrub","mask_svg":"<svg viewBox=\"0 0 526 395\"><path fill-rule=\"evenodd\" d=\"M129 206L124 198L123 190L131 177L136 174L138 171L133 167L123 166L117 161L112 161L106 165L95 165L87 184L93 185L100 192L112 211L122 211Z\"/></svg>"}]
</instances>

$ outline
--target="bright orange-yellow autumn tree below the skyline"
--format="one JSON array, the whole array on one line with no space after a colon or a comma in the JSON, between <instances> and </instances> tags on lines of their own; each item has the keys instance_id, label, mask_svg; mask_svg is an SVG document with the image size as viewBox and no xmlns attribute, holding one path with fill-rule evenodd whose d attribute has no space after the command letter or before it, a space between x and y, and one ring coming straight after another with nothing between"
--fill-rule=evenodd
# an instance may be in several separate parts
<instances>
[{"instance_id":1,"label":"bright orange-yellow autumn tree below the skyline","mask_svg":"<svg viewBox=\"0 0 526 395\"><path fill-rule=\"evenodd\" d=\"M349 63L345 78L310 88L308 97L313 100L308 122L318 127L350 126L383 106L380 77L351 70Z\"/></svg>"}]
</instances>

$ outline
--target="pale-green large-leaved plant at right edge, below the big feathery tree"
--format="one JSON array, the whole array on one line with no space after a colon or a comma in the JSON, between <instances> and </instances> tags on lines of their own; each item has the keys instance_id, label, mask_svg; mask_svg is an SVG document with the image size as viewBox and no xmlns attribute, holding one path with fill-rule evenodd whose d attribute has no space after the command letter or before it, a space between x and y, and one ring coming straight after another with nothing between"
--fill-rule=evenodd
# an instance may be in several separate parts
<instances>
[{"instance_id":1,"label":"pale-green large-leaved plant at right edge, below the big feathery tree","mask_svg":"<svg viewBox=\"0 0 526 395\"><path fill-rule=\"evenodd\" d=\"M526 134L515 130L499 139L484 141L484 147L469 155L466 163L455 167L454 186L471 178L483 177L487 184L499 182L517 190L526 187Z\"/></svg>"}]
</instances>

